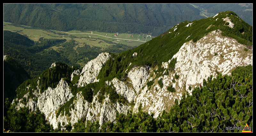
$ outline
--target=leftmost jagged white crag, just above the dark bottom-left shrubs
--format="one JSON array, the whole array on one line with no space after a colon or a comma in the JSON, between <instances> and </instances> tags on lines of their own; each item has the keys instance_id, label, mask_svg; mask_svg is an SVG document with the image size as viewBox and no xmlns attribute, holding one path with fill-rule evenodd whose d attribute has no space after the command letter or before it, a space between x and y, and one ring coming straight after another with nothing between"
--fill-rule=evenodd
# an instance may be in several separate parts
<instances>
[{"instance_id":1,"label":"leftmost jagged white crag, just above the dark bottom-left shrubs","mask_svg":"<svg viewBox=\"0 0 256 136\"><path fill-rule=\"evenodd\" d=\"M29 87L30 86L27 88ZM35 102L32 98L29 98L26 105L24 105L21 102L22 99L20 99L18 101L17 108L19 109L20 107L26 106L29 107L29 109L32 111L35 111L36 108L38 108L41 112L44 113L45 118L50 122L50 124L53 125L53 128L57 128L58 122L65 122L67 124L67 119L56 118L56 112L61 105L68 102L73 97L68 83L61 79L56 88L53 89L48 87L42 94L39 93L40 91L41 90L37 88L33 93L38 98L37 102ZM28 98L28 94L25 94L24 98Z\"/></svg>"}]
</instances>

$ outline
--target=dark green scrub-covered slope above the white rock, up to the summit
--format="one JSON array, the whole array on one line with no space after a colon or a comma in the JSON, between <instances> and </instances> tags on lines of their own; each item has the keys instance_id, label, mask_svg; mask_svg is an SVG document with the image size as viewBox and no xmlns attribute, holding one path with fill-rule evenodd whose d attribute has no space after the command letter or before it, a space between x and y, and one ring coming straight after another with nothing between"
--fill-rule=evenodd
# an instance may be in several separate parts
<instances>
[{"instance_id":1,"label":"dark green scrub-covered slope above the white rock, up to the summit","mask_svg":"<svg viewBox=\"0 0 256 136\"><path fill-rule=\"evenodd\" d=\"M248 47L252 46L252 26L237 18L237 15L232 11L221 12L216 18L223 18L225 16L232 18L236 24L234 28L230 28L228 23L222 19L214 20L207 18L193 22L183 21L164 34L155 37L154 40L146 42L133 50L116 55L115 61L109 60L110 64L107 63L103 66L101 69L102 73L99 73L98 78L118 77L120 79L125 74L127 68L129 71L133 66L138 65L152 67L158 65L158 72L161 73L164 71L164 68L161 68L162 63L169 61L179 51L183 43L190 40L196 42L204 35L217 29L222 31L223 36L232 37ZM189 24L191 24L191 27L187 27ZM134 52L137 52L136 57L133 57ZM106 75L106 71L108 71L109 76L108 74Z\"/></svg>"}]
</instances>

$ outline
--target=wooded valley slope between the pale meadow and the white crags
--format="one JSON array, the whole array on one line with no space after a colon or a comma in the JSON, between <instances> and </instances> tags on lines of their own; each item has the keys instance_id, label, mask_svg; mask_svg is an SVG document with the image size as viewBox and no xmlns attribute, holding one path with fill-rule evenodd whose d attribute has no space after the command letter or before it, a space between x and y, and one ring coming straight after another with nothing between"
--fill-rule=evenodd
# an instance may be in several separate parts
<instances>
[{"instance_id":1,"label":"wooded valley slope between the pale meadow and the white crags","mask_svg":"<svg viewBox=\"0 0 256 136\"><path fill-rule=\"evenodd\" d=\"M77 47L74 51L74 47L78 44L75 40L67 41L66 39L45 39L42 37L39 41L34 42L24 35L4 30L4 55L13 57L24 67L31 78L35 78L54 62L80 67L81 61L83 61L82 64L86 64L103 51L118 54L134 48L109 41L105 42L110 43L110 46L103 48L85 44ZM53 46L59 47L58 50L49 49Z\"/></svg>"}]
</instances>

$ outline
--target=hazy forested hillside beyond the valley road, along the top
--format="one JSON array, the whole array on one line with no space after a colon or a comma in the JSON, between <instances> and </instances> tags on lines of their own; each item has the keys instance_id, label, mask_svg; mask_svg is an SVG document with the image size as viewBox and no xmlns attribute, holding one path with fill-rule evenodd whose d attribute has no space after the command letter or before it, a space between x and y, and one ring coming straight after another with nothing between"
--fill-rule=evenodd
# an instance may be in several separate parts
<instances>
[{"instance_id":1,"label":"hazy forested hillside beyond the valley road, along the top","mask_svg":"<svg viewBox=\"0 0 256 136\"><path fill-rule=\"evenodd\" d=\"M4 21L59 31L162 34L201 19L189 4L4 4Z\"/></svg>"}]
</instances>

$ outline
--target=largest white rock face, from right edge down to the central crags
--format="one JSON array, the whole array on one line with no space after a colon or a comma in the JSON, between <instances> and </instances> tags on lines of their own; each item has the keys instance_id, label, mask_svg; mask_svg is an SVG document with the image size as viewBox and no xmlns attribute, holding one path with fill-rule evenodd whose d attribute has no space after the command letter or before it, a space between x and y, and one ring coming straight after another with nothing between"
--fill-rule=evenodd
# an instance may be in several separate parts
<instances>
[{"instance_id":1,"label":"largest white rock face, from right edge down to the central crags","mask_svg":"<svg viewBox=\"0 0 256 136\"><path fill-rule=\"evenodd\" d=\"M252 49L244 51L246 46L239 44L235 39L223 37L220 33L220 31L213 31L197 42L184 43L172 57L172 59L177 58L175 72L155 79L150 90L148 87L142 89L145 84L140 83L152 80L148 75L154 74L154 72L152 70L145 72L145 78L142 78L143 75L140 76L141 72L138 72L140 67L137 67L129 74L132 87L136 88L135 91L131 89L132 87L129 89L129 85L113 79L112 82L117 92L130 98L130 101L133 98L135 102L133 112L136 112L139 105L142 104L145 111L148 111L149 114L154 113L154 117L158 117L163 110L168 111L172 107L175 99L181 100L186 91L191 93L193 89L190 91L189 86L198 87L203 84L203 79L207 79L210 75L216 77L217 72L229 75L237 66L252 64ZM168 62L163 62L162 67L167 68L170 62L171 59ZM180 77L173 83L172 79L175 74ZM163 78L163 88L157 83L160 78ZM167 87L171 85L176 92L171 93L167 90Z\"/></svg>"}]
</instances>

